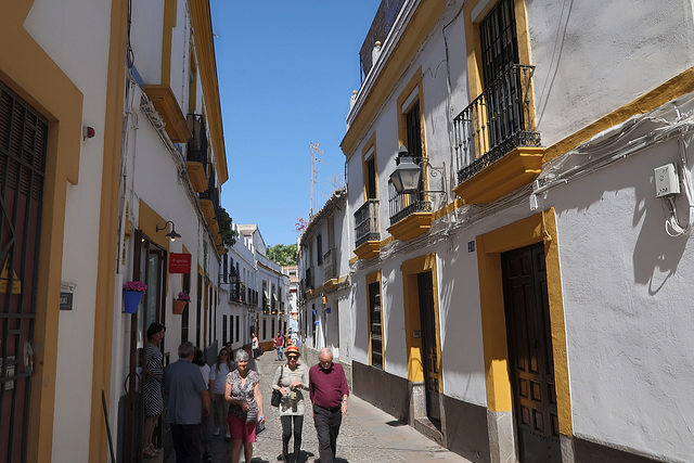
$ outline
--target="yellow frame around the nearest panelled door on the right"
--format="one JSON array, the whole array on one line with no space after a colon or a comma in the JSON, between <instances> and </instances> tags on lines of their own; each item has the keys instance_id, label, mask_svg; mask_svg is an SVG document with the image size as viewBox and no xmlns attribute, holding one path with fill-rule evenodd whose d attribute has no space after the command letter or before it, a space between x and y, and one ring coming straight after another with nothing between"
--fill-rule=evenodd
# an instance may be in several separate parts
<instances>
[{"instance_id":1,"label":"yellow frame around the nearest panelled door on the right","mask_svg":"<svg viewBox=\"0 0 694 463\"><path fill-rule=\"evenodd\" d=\"M568 359L554 208L477 236L487 407L496 412L512 410L501 253L542 241L544 241L560 432L571 436Z\"/></svg>"}]
</instances>

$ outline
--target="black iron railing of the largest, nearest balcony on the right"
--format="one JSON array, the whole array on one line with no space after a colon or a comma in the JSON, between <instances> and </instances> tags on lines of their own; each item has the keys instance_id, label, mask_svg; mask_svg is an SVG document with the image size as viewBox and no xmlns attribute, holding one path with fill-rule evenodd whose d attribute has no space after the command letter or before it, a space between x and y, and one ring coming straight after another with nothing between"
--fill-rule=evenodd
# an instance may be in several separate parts
<instances>
[{"instance_id":1,"label":"black iron railing of the largest, nearest balcony on the right","mask_svg":"<svg viewBox=\"0 0 694 463\"><path fill-rule=\"evenodd\" d=\"M519 146L539 146L530 117L535 66L514 64L453 119L458 182L479 173Z\"/></svg>"}]
</instances>

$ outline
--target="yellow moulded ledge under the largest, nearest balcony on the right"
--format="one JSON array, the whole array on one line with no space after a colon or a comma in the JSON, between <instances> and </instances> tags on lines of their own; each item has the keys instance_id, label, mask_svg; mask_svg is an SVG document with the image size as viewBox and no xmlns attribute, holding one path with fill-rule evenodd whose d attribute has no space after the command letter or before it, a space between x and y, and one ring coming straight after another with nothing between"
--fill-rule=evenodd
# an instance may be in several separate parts
<instances>
[{"instance_id":1,"label":"yellow moulded ledge under the largest, nearest balcony on the right","mask_svg":"<svg viewBox=\"0 0 694 463\"><path fill-rule=\"evenodd\" d=\"M465 204L491 203L527 185L540 173L543 147L516 147L453 192Z\"/></svg>"}]
</instances>

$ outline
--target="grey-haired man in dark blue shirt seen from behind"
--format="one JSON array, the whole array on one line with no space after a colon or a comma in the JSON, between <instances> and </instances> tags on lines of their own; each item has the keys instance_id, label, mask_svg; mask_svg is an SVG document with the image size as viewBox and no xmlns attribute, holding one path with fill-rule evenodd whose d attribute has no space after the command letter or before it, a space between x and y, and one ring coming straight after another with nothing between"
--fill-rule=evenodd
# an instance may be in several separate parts
<instances>
[{"instance_id":1,"label":"grey-haired man in dark blue shirt seen from behind","mask_svg":"<svg viewBox=\"0 0 694 463\"><path fill-rule=\"evenodd\" d=\"M177 463L201 462L201 422L209 414L209 394L200 368L192 362L195 347L185 342L178 346L178 361L167 366L162 389L169 396L166 422Z\"/></svg>"}]
</instances>

